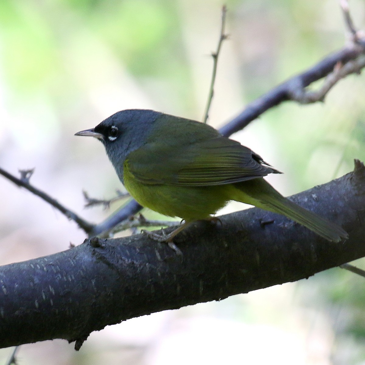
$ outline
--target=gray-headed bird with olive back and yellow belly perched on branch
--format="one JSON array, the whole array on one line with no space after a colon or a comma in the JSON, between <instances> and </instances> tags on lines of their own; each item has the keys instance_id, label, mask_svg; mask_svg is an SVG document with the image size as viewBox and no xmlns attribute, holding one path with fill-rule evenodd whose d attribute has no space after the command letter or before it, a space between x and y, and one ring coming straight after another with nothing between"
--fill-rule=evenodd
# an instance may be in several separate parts
<instances>
[{"instance_id":1,"label":"gray-headed bird with olive back and yellow belly perched on branch","mask_svg":"<svg viewBox=\"0 0 365 365\"><path fill-rule=\"evenodd\" d=\"M196 220L212 219L230 200L283 214L329 241L348 235L341 227L277 192L264 176L280 173L213 127L153 110L123 110L95 128L77 132L105 146L120 181L143 207L184 219L173 237Z\"/></svg>"}]
</instances>

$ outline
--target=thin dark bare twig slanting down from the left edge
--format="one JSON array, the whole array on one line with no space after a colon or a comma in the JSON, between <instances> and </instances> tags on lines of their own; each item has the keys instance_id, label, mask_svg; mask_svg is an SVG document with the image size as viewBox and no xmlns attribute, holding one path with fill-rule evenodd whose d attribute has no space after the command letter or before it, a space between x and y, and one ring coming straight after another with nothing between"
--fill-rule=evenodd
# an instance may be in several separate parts
<instances>
[{"instance_id":1,"label":"thin dark bare twig slanting down from the left edge","mask_svg":"<svg viewBox=\"0 0 365 365\"><path fill-rule=\"evenodd\" d=\"M71 211L68 208L64 207L64 205L58 203L57 200L53 199L48 194L46 194L43 191L40 191L39 189L37 189L34 186L32 186L29 183L29 178L26 179L23 176L22 179L19 179L19 178L13 176L12 174L8 173L7 171L5 171L5 170L3 170L1 168L0 168L0 174L3 175L4 177L6 177L7 179L9 179L10 181L12 181L14 184L18 185L19 187L26 188L28 191L32 192L34 195L37 195L40 198L42 198L43 200L47 201L47 203L51 204L54 208L56 208L57 210L59 210L68 219L71 219L74 222L76 222L77 225L82 230L85 231L85 233L89 233L92 230L92 228L93 228L93 224L92 223L89 223L86 220L82 219L76 213L74 213L73 211Z\"/></svg>"}]
</instances>

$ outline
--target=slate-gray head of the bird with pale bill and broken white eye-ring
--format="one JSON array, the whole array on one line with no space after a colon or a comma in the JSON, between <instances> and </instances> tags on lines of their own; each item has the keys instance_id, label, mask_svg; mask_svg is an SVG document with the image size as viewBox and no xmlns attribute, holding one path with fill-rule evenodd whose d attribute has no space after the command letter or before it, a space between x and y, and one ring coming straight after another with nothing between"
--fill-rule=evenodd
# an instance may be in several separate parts
<instances>
[{"instance_id":1,"label":"slate-gray head of the bird with pale bill and broken white eye-ring","mask_svg":"<svg viewBox=\"0 0 365 365\"><path fill-rule=\"evenodd\" d=\"M141 147L148 137L160 112L143 109L119 111L95 128L75 133L99 139L105 146L109 160L123 183L124 160L132 151Z\"/></svg>"}]
</instances>

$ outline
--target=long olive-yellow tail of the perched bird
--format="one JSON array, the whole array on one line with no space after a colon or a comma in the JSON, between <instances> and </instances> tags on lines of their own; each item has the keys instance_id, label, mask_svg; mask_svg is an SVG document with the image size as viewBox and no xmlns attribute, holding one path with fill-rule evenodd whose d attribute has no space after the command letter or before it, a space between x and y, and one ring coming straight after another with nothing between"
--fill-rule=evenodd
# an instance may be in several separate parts
<instances>
[{"instance_id":1,"label":"long olive-yellow tail of the perched bird","mask_svg":"<svg viewBox=\"0 0 365 365\"><path fill-rule=\"evenodd\" d=\"M235 190L234 200L255 205L270 212L283 214L328 239L328 241L339 242L342 238L349 237L347 232L337 224L300 207L282 196L263 178L243 181L242 183L233 184L233 186Z\"/></svg>"}]
</instances>

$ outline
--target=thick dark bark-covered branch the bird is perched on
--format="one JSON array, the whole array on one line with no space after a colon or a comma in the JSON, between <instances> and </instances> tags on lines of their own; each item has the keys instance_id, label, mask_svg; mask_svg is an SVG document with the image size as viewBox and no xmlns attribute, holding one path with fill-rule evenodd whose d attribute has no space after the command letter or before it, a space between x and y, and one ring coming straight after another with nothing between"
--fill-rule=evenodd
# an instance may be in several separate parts
<instances>
[{"instance_id":1,"label":"thick dark bark-covered branch the bird is perched on","mask_svg":"<svg viewBox=\"0 0 365 365\"><path fill-rule=\"evenodd\" d=\"M343 226L328 242L283 216L252 208L193 224L183 256L143 235L85 241L0 268L0 347L63 338L78 349L108 324L295 281L365 255L365 168L292 197ZM173 229L173 228L170 228Z\"/></svg>"}]
</instances>

